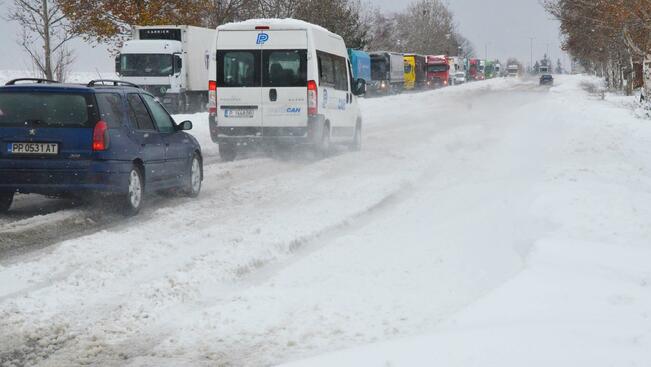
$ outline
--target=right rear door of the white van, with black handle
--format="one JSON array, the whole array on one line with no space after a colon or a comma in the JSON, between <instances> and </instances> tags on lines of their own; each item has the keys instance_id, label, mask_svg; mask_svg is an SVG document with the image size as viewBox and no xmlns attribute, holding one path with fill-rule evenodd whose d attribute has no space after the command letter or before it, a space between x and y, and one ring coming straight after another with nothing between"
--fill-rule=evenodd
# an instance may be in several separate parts
<instances>
[{"instance_id":1,"label":"right rear door of the white van, with black handle","mask_svg":"<svg viewBox=\"0 0 651 367\"><path fill-rule=\"evenodd\" d=\"M262 45L265 135L307 133L307 31L269 30Z\"/></svg>"}]
</instances>

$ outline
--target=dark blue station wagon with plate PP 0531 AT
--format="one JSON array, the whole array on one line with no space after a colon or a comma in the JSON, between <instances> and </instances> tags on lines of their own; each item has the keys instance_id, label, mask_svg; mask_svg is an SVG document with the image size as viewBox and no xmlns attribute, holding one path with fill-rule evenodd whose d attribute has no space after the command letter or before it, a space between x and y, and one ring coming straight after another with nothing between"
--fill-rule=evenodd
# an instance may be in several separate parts
<instances>
[{"instance_id":1,"label":"dark blue station wagon with plate PP 0531 AT","mask_svg":"<svg viewBox=\"0 0 651 367\"><path fill-rule=\"evenodd\" d=\"M146 192L199 195L197 140L151 94L122 81L16 79L0 87L0 213L15 193L106 193L128 215Z\"/></svg>"}]
</instances>

